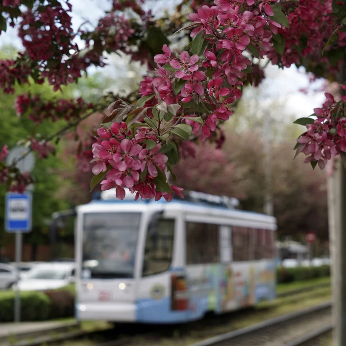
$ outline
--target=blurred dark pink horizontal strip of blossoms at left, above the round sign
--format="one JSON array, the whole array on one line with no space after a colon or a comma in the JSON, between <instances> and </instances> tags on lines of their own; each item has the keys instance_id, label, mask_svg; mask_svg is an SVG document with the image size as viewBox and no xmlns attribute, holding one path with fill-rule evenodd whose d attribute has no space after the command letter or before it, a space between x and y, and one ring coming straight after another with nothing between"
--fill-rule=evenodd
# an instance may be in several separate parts
<instances>
[{"instance_id":1,"label":"blurred dark pink horizontal strip of blossoms at left, above the round sign","mask_svg":"<svg viewBox=\"0 0 346 346\"><path fill-rule=\"evenodd\" d=\"M78 119L85 111L92 109L93 104L85 102L81 97L76 100L59 99L54 102L43 100L39 94L31 96L26 93L17 97L15 108L18 116L28 111L28 118L39 124L44 119Z\"/></svg>"}]
</instances>

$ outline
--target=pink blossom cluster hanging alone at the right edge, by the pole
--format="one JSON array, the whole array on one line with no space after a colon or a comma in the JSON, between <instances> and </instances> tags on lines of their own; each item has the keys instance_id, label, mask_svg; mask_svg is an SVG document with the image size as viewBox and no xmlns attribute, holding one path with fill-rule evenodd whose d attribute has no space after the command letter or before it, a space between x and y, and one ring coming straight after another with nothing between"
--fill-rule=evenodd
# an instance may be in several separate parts
<instances>
[{"instance_id":1,"label":"pink blossom cluster hanging alone at the right edge, by the pole","mask_svg":"<svg viewBox=\"0 0 346 346\"><path fill-rule=\"evenodd\" d=\"M325 96L327 101L322 108L314 109L317 119L313 124L306 124L307 131L297 139L300 143L297 154L302 152L307 156L304 162L318 163L322 170L332 156L346 152L346 118L343 116L346 97L336 103L331 94L325 93Z\"/></svg>"}]
</instances>

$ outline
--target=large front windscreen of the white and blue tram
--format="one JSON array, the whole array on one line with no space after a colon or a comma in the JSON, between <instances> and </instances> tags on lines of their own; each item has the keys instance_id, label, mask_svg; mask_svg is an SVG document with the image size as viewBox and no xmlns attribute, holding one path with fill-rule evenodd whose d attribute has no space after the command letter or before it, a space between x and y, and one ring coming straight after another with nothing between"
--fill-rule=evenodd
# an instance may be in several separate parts
<instances>
[{"instance_id":1,"label":"large front windscreen of the white and blue tram","mask_svg":"<svg viewBox=\"0 0 346 346\"><path fill-rule=\"evenodd\" d=\"M133 277L140 216L140 213L84 216L83 278Z\"/></svg>"}]
</instances>

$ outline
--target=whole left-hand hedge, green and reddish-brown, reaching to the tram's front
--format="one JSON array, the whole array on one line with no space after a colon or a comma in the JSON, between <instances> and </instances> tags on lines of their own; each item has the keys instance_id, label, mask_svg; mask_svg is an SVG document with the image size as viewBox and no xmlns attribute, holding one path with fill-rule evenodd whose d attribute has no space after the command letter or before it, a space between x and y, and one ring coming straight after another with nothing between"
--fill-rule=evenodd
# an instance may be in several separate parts
<instances>
[{"instance_id":1,"label":"whole left-hand hedge, green and reddish-brown, reaching to the tram's front","mask_svg":"<svg viewBox=\"0 0 346 346\"><path fill-rule=\"evenodd\" d=\"M0 323L14 320L14 291L0 291ZM43 321L73 317L75 296L70 289L21 292L21 320Z\"/></svg>"}]
</instances>

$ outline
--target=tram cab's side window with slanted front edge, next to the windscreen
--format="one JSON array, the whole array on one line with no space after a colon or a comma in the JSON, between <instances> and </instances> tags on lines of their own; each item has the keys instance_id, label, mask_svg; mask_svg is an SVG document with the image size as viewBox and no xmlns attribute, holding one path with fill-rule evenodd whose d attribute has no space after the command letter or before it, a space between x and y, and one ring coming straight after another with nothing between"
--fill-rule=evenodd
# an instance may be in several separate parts
<instances>
[{"instance_id":1,"label":"tram cab's side window with slanted front edge, next to the windscreen","mask_svg":"<svg viewBox=\"0 0 346 346\"><path fill-rule=\"evenodd\" d=\"M159 219L155 230L148 229L145 242L143 276L162 273L172 262L174 219Z\"/></svg>"}]
</instances>

